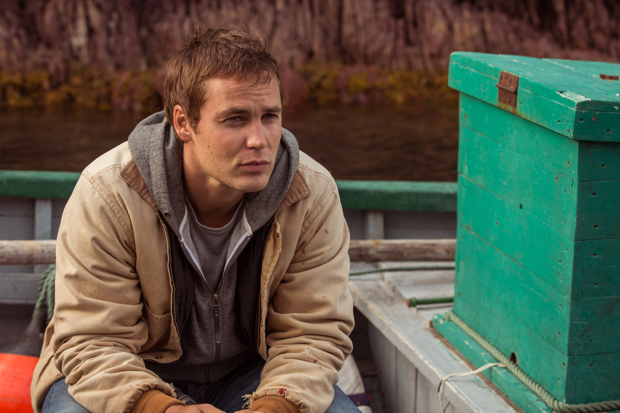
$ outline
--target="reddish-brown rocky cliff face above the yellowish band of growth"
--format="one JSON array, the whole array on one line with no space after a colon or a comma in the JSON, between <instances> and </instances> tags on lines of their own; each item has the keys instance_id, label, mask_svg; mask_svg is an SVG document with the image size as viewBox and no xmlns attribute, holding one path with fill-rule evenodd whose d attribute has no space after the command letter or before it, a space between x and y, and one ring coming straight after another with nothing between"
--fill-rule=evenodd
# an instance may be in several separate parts
<instances>
[{"instance_id":1,"label":"reddish-brown rocky cliff face above the yellowish band of growth","mask_svg":"<svg viewBox=\"0 0 620 413\"><path fill-rule=\"evenodd\" d=\"M281 63L428 71L454 50L620 59L618 0L4 0L0 69L161 67L203 27L242 21Z\"/></svg>"}]
</instances>

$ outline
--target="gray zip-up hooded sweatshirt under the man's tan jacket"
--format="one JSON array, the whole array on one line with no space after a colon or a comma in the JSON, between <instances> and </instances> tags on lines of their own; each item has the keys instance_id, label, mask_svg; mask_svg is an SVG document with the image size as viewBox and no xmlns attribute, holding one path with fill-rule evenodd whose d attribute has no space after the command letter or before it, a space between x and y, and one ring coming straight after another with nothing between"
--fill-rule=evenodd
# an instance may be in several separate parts
<instances>
[{"instance_id":1,"label":"gray zip-up hooded sweatshirt under the man's tan jacket","mask_svg":"<svg viewBox=\"0 0 620 413\"><path fill-rule=\"evenodd\" d=\"M219 380L257 354L239 334L235 311L236 258L252 237L272 218L284 199L299 163L299 147L293 134L282 129L275 166L267 187L248 193L236 214L228 245L222 251L196 248L192 240L193 211L187 207L183 188L183 142L177 139L164 112L141 121L129 136L131 156L157 207L180 241L195 271L194 303L182 328L179 360L162 364L148 362L147 368L168 381L207 383ZM198 237L194 233L195 237ZM226 250L226 251L224 251ZM213 263L206 262L214 260ZM221 264L218 264L221 261ZM202 265L201 265L202 264ZM204 274L203 269L221 269L222 274ZM214 290L207 280L218 280ZM215 287L213 282L211 285ZM217 300L217 302L215 302ZM214 303L219 305L214 315ZM218 320L216 320L216 318Z\"/></svg>"}]
</instances>

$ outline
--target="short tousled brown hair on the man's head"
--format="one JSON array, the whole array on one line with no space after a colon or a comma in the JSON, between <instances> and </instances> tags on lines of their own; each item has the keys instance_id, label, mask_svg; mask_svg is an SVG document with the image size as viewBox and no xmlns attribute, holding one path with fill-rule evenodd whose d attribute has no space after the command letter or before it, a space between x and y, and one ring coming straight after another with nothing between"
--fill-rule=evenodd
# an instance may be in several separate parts
<instances>
[{"instance_id":1,"label":"short tousled brown hair on the man's head","mask_svg":"<svg viewBox=\"0 0 620 413\"><path fill-rule=\"evenodd\" d=\"M280 85L278 62L269 53L265 36L239 26L206 30L198 26L170 55L164 67L164 111L170 124L174 124L174 106L180 105L188 124L196 128L200 105L206 100L205 82L210 77L255 78L257 82L276 79Z\"/></svg>"}]
</instances>

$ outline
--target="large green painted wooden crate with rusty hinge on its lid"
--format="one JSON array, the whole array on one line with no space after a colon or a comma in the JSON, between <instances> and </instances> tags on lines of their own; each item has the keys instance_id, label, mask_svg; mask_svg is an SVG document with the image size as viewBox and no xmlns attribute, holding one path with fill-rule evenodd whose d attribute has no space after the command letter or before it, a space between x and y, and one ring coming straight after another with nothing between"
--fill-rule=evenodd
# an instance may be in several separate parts
<instances>
[{"instance_id":1,"label":"large green painted wooden crate with rusty hinge on its lid","mask_svg":"<svg viewBox=\"0 0 620 413\"><path fill-rule=\"evenodd\" d=\"M617 75L486 53L450 62L454 313L570 404L620 399L620 81L602 78Z\"/></svg>"}]
</instances>

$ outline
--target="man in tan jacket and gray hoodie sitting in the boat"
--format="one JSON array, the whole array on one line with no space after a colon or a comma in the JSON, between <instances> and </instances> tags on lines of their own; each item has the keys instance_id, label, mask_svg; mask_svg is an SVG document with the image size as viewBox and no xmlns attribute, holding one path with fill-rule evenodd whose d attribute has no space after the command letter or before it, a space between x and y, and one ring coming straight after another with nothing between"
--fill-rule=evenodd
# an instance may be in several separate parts
<instances>
[{"instance_id":1,"label":"man in tan jacket and gray hoodie sitting in the boat","mask_svg":"<svg viewBox=\"0 0 620 413\"><path fill-rule=\"evenodd\" d=\"M198 30L164 79L164 113L64 209L33 408L357 411L334 386L352 350L348 228L329 172L281 128L266 41Z\"/></svg>"}]
</instances>

